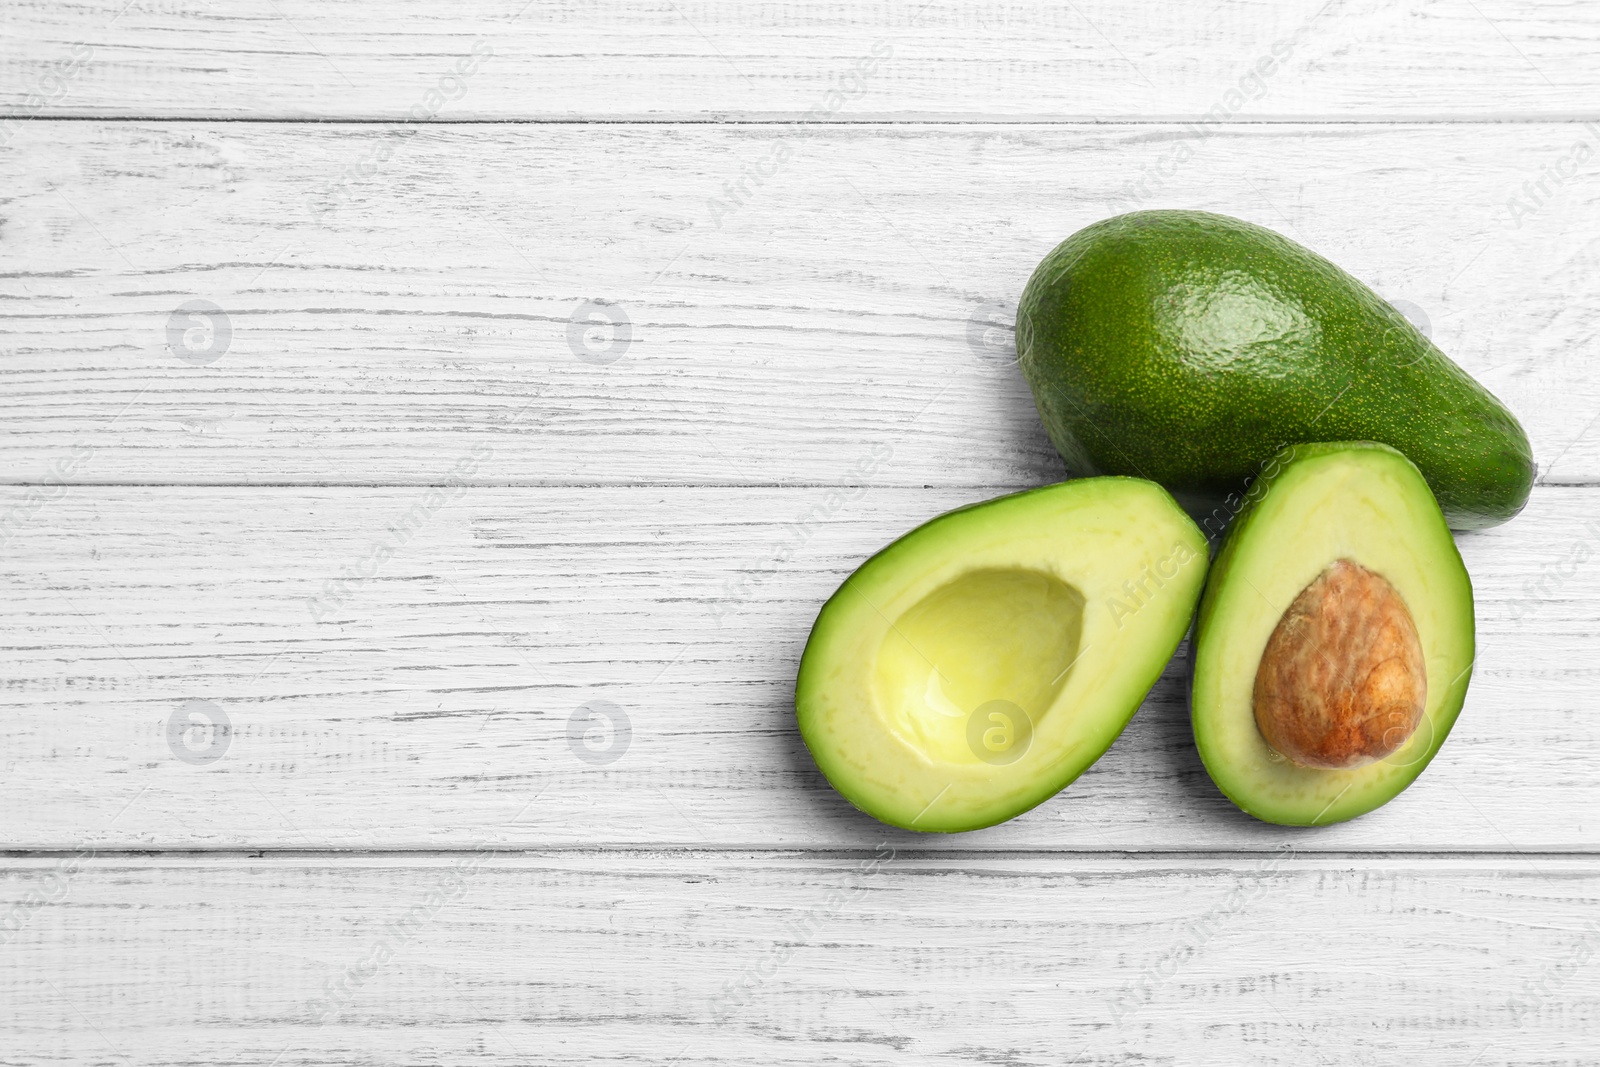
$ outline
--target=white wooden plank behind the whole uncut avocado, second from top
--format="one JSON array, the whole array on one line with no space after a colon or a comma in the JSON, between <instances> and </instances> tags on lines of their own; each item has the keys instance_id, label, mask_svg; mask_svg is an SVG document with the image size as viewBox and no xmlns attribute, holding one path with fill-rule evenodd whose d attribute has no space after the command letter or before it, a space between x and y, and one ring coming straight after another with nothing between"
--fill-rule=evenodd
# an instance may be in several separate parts
<instances>
[{"instance_id":1,"label":"white wooden plank behind the whole uncut avocado, second from top","mask_svg":"<svg viewBox=\"0 0 1600 1067\"><path fill-rule=\"evenodd\" d=\"M1181 130L24 133L10 482L438 483L488 446L514 485L1034 485L1061 467L1008 302L1123 197L1330 254L1520 413L1547 482L1600 478L1600 182L1541 179L1600 126L1232 126L1142 198Z\"/></svg>"}]
</instances>

